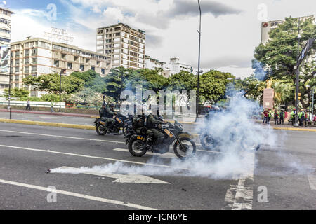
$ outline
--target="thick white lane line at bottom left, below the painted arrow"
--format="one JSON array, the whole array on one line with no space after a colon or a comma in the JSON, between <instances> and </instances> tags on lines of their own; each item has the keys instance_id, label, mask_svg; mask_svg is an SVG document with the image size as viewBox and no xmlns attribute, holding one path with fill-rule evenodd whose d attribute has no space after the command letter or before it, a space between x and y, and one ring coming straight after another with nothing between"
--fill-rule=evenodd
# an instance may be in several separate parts
<instances>
[{"instance_id":1,"label":"thick white lane line at bottom left, below the painted arrow","mask_svg":"<svg viewBox=\"0 0 316 224\"><path fill-rule=\"evenodd\" d=\"M0 183L5 183L5 184L13 185L13 186L20 186L20 187L24 187L24 188L32 188L32 189L44 190L44 191L51 192L51 190L48 188L44 188L41 186L34 186L34 185L26 184L26 183L18 183L18 182L6 181L6 180L1 180L1 179L0 179ZM144 206L141 206L138 204L131 204L131 203L121 202L121 201L117 201L117 200L110 200L110 199L106 199L103 197L94 197L94 196L89 196L89 195L82 195L79 193L73 193L73 192L65 191L65 190L55 190L55 193L58 193L61 195L69 195L69 196L73 196L73 197L80 197L80 198L84 198L87 200L93 200L93 201L97 201L97 202L105 202L105 203L109 203L109 204L118 204L121 206L132 207L135 209L157 210L157 209L153 209L150 207L144 207Z\"/></svg>"}]
</instances>

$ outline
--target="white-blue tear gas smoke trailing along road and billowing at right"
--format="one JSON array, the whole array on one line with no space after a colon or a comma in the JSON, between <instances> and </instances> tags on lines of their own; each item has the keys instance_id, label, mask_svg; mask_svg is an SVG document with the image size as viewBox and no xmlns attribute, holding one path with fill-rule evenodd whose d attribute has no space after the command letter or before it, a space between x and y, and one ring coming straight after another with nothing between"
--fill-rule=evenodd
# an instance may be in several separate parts
<instances>
[{"instance_id":1,"label":"white-blue tear gas smoke trailing along road and billowing at right","mask_svg":"<svg viewBox=\"0 0 316 224\"><path fill-rule=\"evenodd\" d=\"M201 120L197 125L198 132L208 132L219 142L217 148L222 153L197 151L194 158L179 160L178 158L151 158L148 165L126 165L115 162L96 167L79 169L51 169L51 173L80 174L84 172L143 174L164 176L201 176L211 179L239 179L241 175L254 171L257 160L253 145L265 145L274 148L277 134L269 125L261 125L251 120L253 114L262 111L258 102L249 101L243 93L235 93L225 111L214 113L212 119ZM246 143L246 147L244 147ZM198 148L199 149L199 148ZM264 151L263 151L264 153ZM156 166L154 166L156 165ZM169 167L164 167L167 165Z\"/></svg>"}]
</instances>

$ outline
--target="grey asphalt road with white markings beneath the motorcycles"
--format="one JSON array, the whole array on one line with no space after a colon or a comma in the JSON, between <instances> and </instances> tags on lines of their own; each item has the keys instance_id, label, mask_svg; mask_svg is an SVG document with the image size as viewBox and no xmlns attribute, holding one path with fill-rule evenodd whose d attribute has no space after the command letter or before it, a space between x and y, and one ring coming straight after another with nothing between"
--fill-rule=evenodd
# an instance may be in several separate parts
<instances>
[{"instance_id":1,"label":"grey asphalt road with white markings beneath the motorcycles","mask_svg":"<svg viewBox=\"0 0 316 224\"><path fill-rule=\"evenodd\" d=\"M208 171L192 175L172 153L134 158L121 136L0 123L0 209L316 209L316 133L277 134L278 146L247 154L254 157L254 170L217 179L204 175ZM211 162L223 156L197 148L197 158ZM103 169L102 174L96 169L46 174L48 168L65 166ZM50 186L57 189L56 197Z\"/></svg>"}]
</instances>

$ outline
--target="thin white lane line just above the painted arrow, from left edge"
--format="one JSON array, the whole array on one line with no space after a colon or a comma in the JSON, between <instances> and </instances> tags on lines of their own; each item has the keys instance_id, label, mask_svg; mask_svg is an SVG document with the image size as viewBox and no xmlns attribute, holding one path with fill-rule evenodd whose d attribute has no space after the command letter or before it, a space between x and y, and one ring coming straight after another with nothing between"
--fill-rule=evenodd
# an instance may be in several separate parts
<instances>
[{"instance_id":1,"label":"thin white lane line just above the painted arrow, from left edge","mask_svg":"<svg viewBox=\"0 0 316 224\"><path fill-rule=\"evenodd\" d=\"M37 152L44 152L44 153L55 153L55 154L60 154L60 155L73 155L73 156L84 157L84 158L93 158L93 159L100 159L100 160L111 160L111 161L115 161L115 162L126 162L126 163L132 163L132 164L137 164L137 165L146 165L146 166L154 166L154 167L166 167L166 168L172 168L172 169L193 170L193 169L181 168L181 167L171 167L171 166L168 166L168 165L159 165L159 164L152 164L152 163L145 163L145 162L135 162L135 161L129 161L129 160L117 160L117 159L113 159L113 158L98 157L98 156L93 156L93 155L63 153L63 152L58 152L58 151L50 151L50 150L36 149L36 148L25 148L25 147L4 146L4 145L0 145L0 147L3 147L3 148L18 148L18 149L27 150L27 151L37 151Z\"/></svg>"}]
</instances>

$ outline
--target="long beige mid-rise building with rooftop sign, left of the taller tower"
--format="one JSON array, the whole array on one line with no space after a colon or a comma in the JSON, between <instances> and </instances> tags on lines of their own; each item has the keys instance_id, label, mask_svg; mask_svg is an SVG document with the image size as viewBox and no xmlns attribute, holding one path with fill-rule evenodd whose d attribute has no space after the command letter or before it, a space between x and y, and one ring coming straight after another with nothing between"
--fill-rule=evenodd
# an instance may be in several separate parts
<instances>
[{"instance_id":1,"label":"long beige mid-rise building with rooftop sign, left of the taller tower","mask_svg":"<svg viewBox=\"0 0 316 224\"><path fill-rule=\"evenodd\" d=\"M77 48L74 45L51 42L43 38L28 37L12 43L11 75L12 87L25 88L31 96L39 97L41 92L22 83L26 76L49 73L70 75L74 71L93 70L105 76L111 69L110 57L97 52Z\"/></svg>"}]
</instances>

